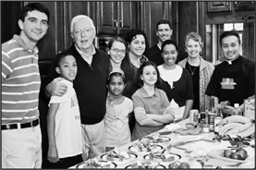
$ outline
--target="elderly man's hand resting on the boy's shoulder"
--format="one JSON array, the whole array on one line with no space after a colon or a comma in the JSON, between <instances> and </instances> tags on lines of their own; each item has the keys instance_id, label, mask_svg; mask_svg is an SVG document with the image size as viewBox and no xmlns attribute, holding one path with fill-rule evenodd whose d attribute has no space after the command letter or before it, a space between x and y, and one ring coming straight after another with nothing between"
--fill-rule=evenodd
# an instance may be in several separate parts
<instances>
[{"instance_id":1,"label":"elderly man's hand resting on the boy's shoulder","mask_svg":"<svg viewBox=\"0 0 256 170\"><path fill-rule=\"evenodd\" d=\"M51 95L63 96L67 92L67 85L59 82L60 80L62 80L62 78L54 79L46 86L45 91Z\"/></svg>"}]
</instances>

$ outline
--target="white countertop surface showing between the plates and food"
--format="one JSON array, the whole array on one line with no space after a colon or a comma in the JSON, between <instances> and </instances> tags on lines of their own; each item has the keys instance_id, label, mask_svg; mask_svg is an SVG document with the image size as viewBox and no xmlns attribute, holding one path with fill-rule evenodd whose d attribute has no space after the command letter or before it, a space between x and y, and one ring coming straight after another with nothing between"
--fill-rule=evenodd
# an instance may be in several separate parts
<instances>
[{"instance_id":1,"label":"white countertop surface showing between the plates and food","mask_svg":"<svg viewBox=\"0 0 256 170\"><path fill-rule=\"evenodd\" d=\"M188 122L189 122L189 119L186 119L181 122L178 122L177 124L171 124L170 126L168 125L165 128L159 130L158 132L168 131L172 126L183 127ZM206 152L209 152L213 149L216 149L216 150L217 149L227 149L228 147L231 146L228 141L221 141L221 142L213 141L213 132L201 133L199 135L179 135L177 133L171 133L171 134L164 135L164 136L171 139L170 141L167 141L165 143L158 144L158 145L162 146L164 149L166 149L168 145L175 144L180 141L198 140L198 141L194 141L194 142L189 142L189 143L179 146L179 147L171 147L169 152L175 153L175 154L178 154L181 156L181 158L178 160L179 162L189 162L189 160L195 159L195 158L197 160L202 159L199 157L193 157L193 155L198 156L199 152L201 152L201 155L203 155L203 154L205 155ZM130 146L132 146L132 144L137 141L138 140L135 140L126 145L118 147L118 150L120 152L129 152L128 148ZM253 140L251 142L254 143L255 141ZM203 159L204 167L203 168L215 168L216 166L221 166L222 168L225 168L225 167L226 168L254 168L254 166L255 166L255 149L251 148L251 147L247 147L245 149L249 154L249 157L246 159L247 163L237 165L237 163L226 162L226 161L223 161L220 159L208 158L208 157L206 159L207 161L205 161L205 157L204 157L204 159ZM134 164L134 163L138 163L138 162L140 162L140 163L146 162L146 160L144 159L145 153L141 153L141 152L135 152L135 153L138 155L137 158L126 160L124 163L114 162L116 164L116 168L126 168L130 164ZM97 156L96 158L100 160L101 156L102 155ZM81 164L83 164L83 163L81 163ZM81 168L81 164L71 166L70 168ZM169 163L163 162L160 164L163 165L162 168L163 167L168 168Z\"/></svg>"}]
</instances>

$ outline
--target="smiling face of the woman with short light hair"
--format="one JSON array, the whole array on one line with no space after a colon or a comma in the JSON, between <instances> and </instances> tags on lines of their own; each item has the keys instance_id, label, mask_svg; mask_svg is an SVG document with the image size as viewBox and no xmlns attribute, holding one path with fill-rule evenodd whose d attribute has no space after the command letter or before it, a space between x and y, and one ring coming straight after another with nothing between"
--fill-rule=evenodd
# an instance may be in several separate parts
<instances>
[{"instance_id":1,"label":"smiling face of the woman with short light hair","mask_svg":"<svg viewBox=\"0 0 256 170\"><path fill-rule=\"evenodd\" d=\"M189 39L189 41L186 43L186 50L189 57L191 58L199 57L201 52L200 42L196 42L193 39Z\"/></svg>"}]
</instances>

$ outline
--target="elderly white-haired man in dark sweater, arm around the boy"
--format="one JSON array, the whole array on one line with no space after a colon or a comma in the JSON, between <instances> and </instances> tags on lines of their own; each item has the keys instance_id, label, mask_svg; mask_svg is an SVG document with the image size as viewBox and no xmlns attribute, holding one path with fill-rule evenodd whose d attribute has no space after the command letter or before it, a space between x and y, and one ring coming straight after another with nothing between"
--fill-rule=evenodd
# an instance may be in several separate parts
<instances>
[{"instance_id":1,"label":"elderly white-haired man in dark sweater, arm around the boy","mask_svg":"<svg viewBox=\"0 0 256 170\"><path fill-rule=\"evenodd\" d=\"M104 153L105 150L104 115L109 58L92 43L96 30L91 18L76 16L71 21L70 31L74 43L63 53L69 53L77 60L78 73L73 86L79 101L78 118L81 120L82 158L85 161ZM57 77L54 59L41 92L46 102L51 95L62 96L67 91L67 86L58 82L61 78Z\"/></svg>"}]
</instances>

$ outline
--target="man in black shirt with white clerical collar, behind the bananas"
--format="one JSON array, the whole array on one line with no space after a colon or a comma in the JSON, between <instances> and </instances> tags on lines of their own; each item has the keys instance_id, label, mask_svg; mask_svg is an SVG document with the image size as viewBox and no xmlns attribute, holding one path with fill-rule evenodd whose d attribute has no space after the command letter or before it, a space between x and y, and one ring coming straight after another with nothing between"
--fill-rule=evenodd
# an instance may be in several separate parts
<instances>
[{"instance_id":1,"label":"man in black shirt with white clerical collar, behind the bananas","mask_svg":"<svg viewBox=\"0 0 256 170\"><path fill-rule=\"evenodd\" d=\"M233 115L235 103L242 104L255 94L255 63L239 54L241 42L236 31L224 32L220 44L226 60L215 67L205 93L216 97L215 103L229 101L223 111Z\"/></svg>"}]
</instances>

